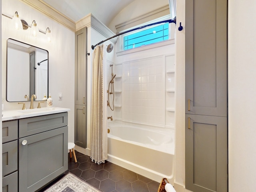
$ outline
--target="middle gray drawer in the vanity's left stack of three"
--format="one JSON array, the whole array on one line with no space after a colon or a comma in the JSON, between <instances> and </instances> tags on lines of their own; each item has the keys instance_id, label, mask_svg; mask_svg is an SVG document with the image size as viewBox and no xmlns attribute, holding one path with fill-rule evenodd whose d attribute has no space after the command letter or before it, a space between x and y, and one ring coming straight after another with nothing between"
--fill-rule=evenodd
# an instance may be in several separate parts
<instances>
[{"instance_id":1,"label":"middle gray drawer in the vanity's left stack of three","mask_svg":"<svg viewBox=\"0 0 256 192\"><path fill-rule=\"evenodd\" d=\"M18 170L18 140L2 144L2 176Z\"/></svg>"}]
</instances>

